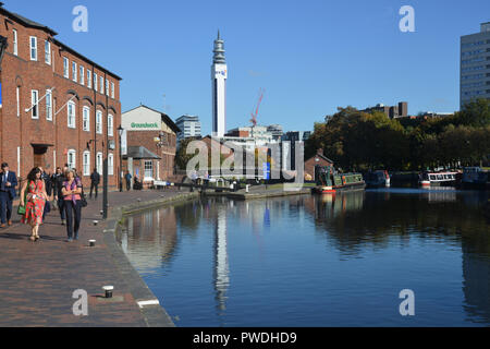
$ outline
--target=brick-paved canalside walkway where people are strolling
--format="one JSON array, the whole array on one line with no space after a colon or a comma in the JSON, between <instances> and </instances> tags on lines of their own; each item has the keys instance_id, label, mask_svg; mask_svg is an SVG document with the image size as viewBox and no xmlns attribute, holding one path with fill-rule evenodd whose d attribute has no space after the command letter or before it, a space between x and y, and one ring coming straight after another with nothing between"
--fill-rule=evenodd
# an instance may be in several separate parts
<instances>
[{"instance_id":1,"label":"brick-paved canalside walkway where people are strolling","mask_svg":"<svg viewBox=\"0 0 490 349\"><path fill-rule=\"evenodd\" d=\"M175 197L184 192L144 191L109 193L111 208L131 203ZM88 198L87 198L88 200ZM102 231L102 197L88 200L83 209L79 241L65 242L66 230L58 212L39 229L41 239L28 241L30 228L15 213L12 227L0 229L0 326L172 326L160 306L142 311L136 301L152 293L131 267L111 233ZM99 220L94 226L94 220ZM113 224L112 224L113 225ZM88 240L97 240L88 248ZM136 274L136 275L135 275ZM102 286L114 286L111 301ZM88 316L73 315L75 290L88 293Z\"/></svg>"}]
</instances>

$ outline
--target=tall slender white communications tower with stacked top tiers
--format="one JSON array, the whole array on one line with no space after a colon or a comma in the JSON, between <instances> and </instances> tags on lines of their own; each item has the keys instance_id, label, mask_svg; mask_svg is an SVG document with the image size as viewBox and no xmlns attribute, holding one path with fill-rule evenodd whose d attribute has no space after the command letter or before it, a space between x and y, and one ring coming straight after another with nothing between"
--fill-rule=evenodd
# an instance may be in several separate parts
<instances>
[{"instance_id":1,"label":"tall slender white communications tower with stacked top tiers","mask_svg":"<svg viewBox=\"0 0 490 349\"><path fill-rule=\"evenodd\" d=\"M224 41L220 37L215 40L215 56L211 67L212 80L212 136L222 137L226 132L226 79L228 68L224 58Z\"/></svg>"}]
</instances>

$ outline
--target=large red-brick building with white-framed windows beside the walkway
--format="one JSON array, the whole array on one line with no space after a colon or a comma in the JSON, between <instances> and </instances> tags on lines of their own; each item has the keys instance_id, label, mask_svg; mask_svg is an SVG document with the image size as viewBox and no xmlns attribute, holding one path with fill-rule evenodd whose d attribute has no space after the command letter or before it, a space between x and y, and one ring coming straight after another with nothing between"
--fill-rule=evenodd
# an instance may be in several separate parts
<instances>
[{"instance_id":1,"label":"large red-brick building with white-framed windows beside the walkway","mask_svg":"<svg viewBox=\"0 0 490 349\"><path fill-rule=\"evenodd\" d=\"M0 3L0 160L25 178L69 164L89 181L108 159L118 185L121 77L56 39L57 33Z\"/></svg>"}]
</instances>

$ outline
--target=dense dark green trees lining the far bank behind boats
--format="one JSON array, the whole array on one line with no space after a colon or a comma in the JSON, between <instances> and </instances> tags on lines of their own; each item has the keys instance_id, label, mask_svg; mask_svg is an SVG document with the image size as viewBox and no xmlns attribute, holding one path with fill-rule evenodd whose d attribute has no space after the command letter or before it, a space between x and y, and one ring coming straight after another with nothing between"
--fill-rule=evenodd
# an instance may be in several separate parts
<instances>
[{"instance_id":1,"label":"dense dark green trees lining the far bank behind boats","mask_svg":"<svg viewBox=\"0 0 490 349\"><path fill-rule=\"evenodd\" d=\"M315 124L306 157L318 148L348 170L475 165L490 154L490 101L478 99L452 117L427 120L339 108L328 123Z\"/></svg>"}]
</instances>

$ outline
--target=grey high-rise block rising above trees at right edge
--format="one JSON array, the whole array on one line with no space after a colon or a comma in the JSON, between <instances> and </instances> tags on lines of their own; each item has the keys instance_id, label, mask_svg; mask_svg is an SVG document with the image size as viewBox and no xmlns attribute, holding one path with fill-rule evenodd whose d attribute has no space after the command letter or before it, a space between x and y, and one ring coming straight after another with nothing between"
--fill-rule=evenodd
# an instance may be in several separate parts
<instances>
[{"instance_id":1,"label":"grey high-rise block rising above trees at right edge","mask_svg":"<svg viewBox=\"0 0 490 349\"><path fill-rule=\"evenodd\" d=\"M490 98L490 22L461 37L460 103Z\"/></svg>"}]
</instances>

